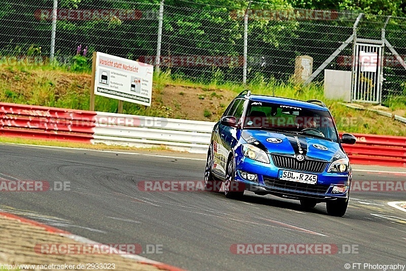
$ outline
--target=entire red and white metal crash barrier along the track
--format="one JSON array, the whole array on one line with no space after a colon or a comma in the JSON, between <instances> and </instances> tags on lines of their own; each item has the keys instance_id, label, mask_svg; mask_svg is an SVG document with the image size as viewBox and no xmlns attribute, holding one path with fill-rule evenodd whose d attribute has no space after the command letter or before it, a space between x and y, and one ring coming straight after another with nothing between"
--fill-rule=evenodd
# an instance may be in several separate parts
<instances>
[{"instance_id":1,"label":"entire red and white metal crash barrier along the track","mask_svg":"<svg viewBox=\"0 0 406 271\"><path fill-rule=\"evenodd\" d=\"M0 133L51 140L159 146L206 153L215 123L0 103ZM406 167L406 137L354 134L353 164Z\"/></svg>"}]
</instances>

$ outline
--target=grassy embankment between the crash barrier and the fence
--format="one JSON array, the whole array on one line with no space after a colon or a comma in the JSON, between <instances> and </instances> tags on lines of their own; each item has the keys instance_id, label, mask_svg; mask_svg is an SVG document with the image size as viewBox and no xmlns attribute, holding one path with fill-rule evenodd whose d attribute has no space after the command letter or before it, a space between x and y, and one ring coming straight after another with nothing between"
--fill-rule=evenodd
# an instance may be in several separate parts
<instances>
[{"instance_id":1,"label":"grassy embankment between the crash barrier and the fence","mask_svg":"<svg viewBox=\"0 0 406 271\"><path fill-rule=\"evenodd\" d=\"M67 89L61 92L58 87L65 75L69 74L71 81ZM0 100L11 103L43 105L61 108L89 109L90 96L90 75L89 72L67 71L65 67L60 66L39 66L39 67L12 67L0 66L0 79L7 77L8 80L0 80ZM11 82L12 80L13 82ZM256 77L248 84L238 84L229 82L219 82L213 80L209 83L193 82L188 79L182 79L171 75L170 72L155 73L153 77L153 106L147 107L133 103L124 102L123 111L126 114L147 115L168 117L176 115L181 110L181 105L174 103L174 108L164 104L162 101L163 91L168 86L181 86L192 89L200 88L206 94L196 95L196 99L220 98L221 92L232 92L239 94L245 89L250 89L253 94L273 95L297 100L322 100L330 109L340 131L352 133L370 133L370 134L388 134L388 135L406 135L405 126L391 121L389 118L377 115L372 112L366 112L347 108L340 104L339 100L328 100L323 95L323 85L321 83L312 83L308 86L296 85L291 81L281 82L273 79ZM27 90L29 87L29 90ZM180 96L185 95L184 92ZM118 101L101 96L95 97L96 111L117 112ZM228 105L228 101L220 104L223 111ZM406 109L406 97L389 97L385 105L391 109ZM206 108L205 117L213 116L212 112ZM176 116L175 116L176 117ZM350 118L350 119L348 119Z\"/></svg>"}]
</instances>

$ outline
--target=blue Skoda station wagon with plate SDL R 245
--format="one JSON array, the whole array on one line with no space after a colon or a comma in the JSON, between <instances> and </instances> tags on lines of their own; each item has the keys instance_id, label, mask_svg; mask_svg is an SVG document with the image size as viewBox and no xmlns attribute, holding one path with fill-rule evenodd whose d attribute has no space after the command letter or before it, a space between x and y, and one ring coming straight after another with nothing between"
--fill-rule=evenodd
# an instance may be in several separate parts
<instances>
[{"instance_id":1,"label":"blue Skoda station wagon with plate SDL R 245","mask_svg":"<svg viewBox=\"0 0 406 271\"><path fill-rule=\"evenodd\" d=\"M242 92L214 126L205 189L227 198L244 191L300 200L303 208L326 202L327 213L344 216L352 170L326 105Z\"/></svg>"}]
</instances>

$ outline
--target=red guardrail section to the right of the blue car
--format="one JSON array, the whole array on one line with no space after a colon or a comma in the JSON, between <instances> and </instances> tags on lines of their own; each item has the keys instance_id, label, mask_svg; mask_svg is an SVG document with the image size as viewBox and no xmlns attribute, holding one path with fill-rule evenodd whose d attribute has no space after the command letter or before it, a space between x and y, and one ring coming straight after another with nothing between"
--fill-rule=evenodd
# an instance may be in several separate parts
<instances>
[{"instance_id":1,"label":"red guardrail section to the right of the blue car","mask_svg":"<svg viewBox=\"0 0 406 271\"><path fill-rule=\"evenodd\" d=\"M353 135L354 145L343 144L352 164L406 167L406 137Z\"/></svg>"}]
</instances>

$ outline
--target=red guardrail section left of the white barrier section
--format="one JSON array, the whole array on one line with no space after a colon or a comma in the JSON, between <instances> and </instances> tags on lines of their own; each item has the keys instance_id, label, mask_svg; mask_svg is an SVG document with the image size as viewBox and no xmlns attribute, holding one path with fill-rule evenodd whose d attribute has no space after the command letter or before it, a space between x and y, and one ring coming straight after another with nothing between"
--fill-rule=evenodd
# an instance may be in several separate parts
<instances>
[{"instance_id":1,"label":"red guardrail section left of the white barrier section","mask_svg":"<svg viewBox=\"0 0 406 271\"><path fill-rule=\"evenodd\" d=\"M0 103L0 134L90 143L96 112Z\"/></svg>"}]
</instances>

